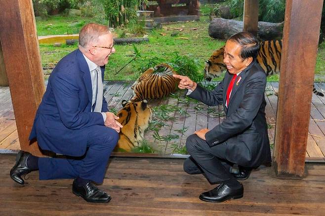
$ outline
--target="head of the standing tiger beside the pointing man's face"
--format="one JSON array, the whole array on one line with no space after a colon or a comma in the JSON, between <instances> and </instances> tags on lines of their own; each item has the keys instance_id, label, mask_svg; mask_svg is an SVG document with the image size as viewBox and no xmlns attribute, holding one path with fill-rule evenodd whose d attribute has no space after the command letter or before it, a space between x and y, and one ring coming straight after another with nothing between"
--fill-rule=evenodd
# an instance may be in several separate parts
<instances>
[{"instance_id":1,"label":"head of the standing tiger beside the pointing man's face","mask_svg":"<svg viewBox=\"0 0 325 216\"><path fill-rule=\"evenodd\" d=\"M213 51L209 60L205 61L204 67L204 79L207 81L211 81L214 77L219 77L222 75L222 72L226 71L227 68L223 64L223 52L224 46L220 49Z\"/></svg>"}]
</instances>

